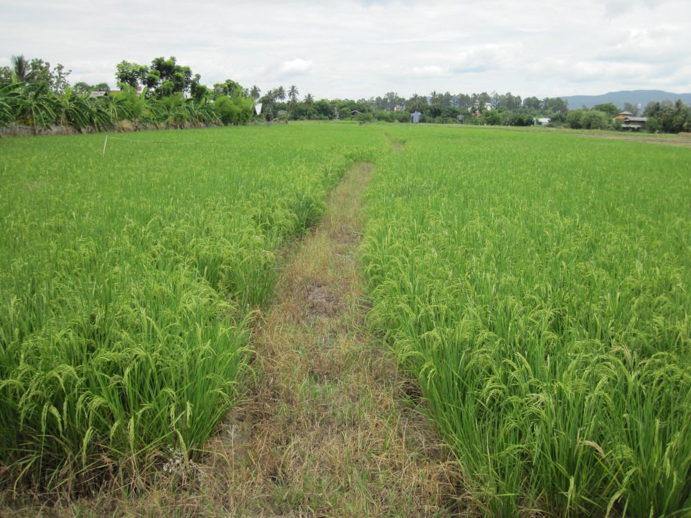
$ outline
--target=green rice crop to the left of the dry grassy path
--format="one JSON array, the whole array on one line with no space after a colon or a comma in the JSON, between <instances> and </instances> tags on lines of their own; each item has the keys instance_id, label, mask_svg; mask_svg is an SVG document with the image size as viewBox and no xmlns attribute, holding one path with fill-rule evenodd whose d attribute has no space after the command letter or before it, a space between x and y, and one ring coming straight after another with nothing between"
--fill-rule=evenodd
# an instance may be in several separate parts
<instances>
[{"instance_id":1,"label":"green rice crop to the left of the dry grassy path","mask_svg":"<svg viewBox=\"0 0 691 518\"><path fill-rule=\"evenodd\" d=\"M102 135L0 141L2 483L86 490L167 448L198 457L243 393L276 251L379 152L372 136L142 133L105 155Z\"/></svg>"}]
</instances>

